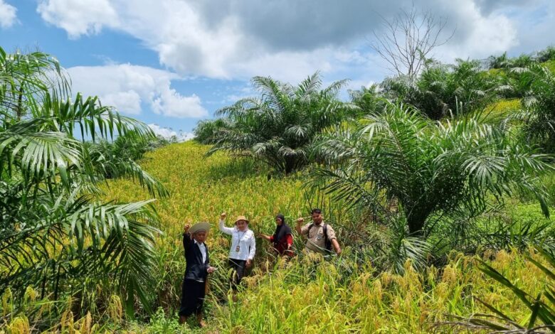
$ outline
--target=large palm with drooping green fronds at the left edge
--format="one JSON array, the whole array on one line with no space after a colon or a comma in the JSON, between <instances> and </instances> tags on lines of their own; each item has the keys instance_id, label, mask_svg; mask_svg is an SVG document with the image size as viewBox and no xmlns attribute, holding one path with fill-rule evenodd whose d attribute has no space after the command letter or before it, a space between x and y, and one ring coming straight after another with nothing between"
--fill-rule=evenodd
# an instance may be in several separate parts
<instances>
[{"instance_id":1,"label":"large palm with drooping green fronds at the left edge","mask_svg":"<svg viewBox=\"0 0 555 334\"><path fill-rule=\"evenodd\" d=\"M114 161L84 140L153 134L96 98L69 94L56 59L0 48L0 294L31 285L57 299L93 280L120 291L132 315L135 296L149 306L157 216L152 200L100 202L98 185L110 170L152 195L166 190L132 159Z\"/></svg>"}]
</instances>

